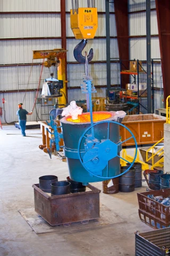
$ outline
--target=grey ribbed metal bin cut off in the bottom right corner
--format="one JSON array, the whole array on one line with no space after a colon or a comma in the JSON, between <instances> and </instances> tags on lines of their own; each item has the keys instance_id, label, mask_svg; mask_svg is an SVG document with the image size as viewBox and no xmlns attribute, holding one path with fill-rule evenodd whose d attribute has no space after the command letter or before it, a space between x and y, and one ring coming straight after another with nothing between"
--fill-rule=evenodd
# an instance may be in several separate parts
<instances>
[{"instance_id":1,"label":"grey ribbed metal bin cut off in the bottom right corner","mask_svg":"<svg viewBox=\"0 0 170 256\"><path fill-rule=\"evenodd\" d=\"M169 255L170 228L135 233L135 256Z\"/></svg>"}]
</instances>

